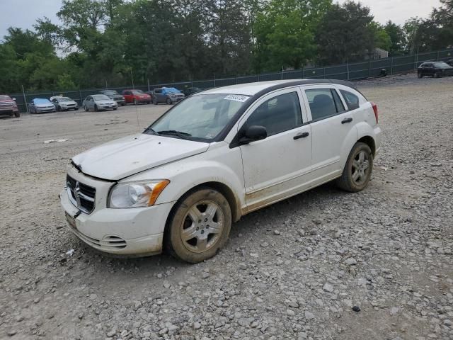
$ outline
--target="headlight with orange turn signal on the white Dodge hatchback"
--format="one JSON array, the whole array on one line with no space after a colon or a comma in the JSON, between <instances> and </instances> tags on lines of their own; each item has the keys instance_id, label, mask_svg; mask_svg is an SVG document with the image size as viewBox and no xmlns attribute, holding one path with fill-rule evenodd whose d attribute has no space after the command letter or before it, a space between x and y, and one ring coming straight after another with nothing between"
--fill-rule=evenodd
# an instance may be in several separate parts
<instances>
[{"instance_id":1,"label":"headlight with orange turn signal on the white Dodge hatchback","mask_svg":"<svg viewBox=\"0 0 453 340\"><path fill-rule=\"evenodd\" d=\"M144 208L154 205L168 179L118 183L110 191L108 208Z\"/></svg>"}]
</instances>

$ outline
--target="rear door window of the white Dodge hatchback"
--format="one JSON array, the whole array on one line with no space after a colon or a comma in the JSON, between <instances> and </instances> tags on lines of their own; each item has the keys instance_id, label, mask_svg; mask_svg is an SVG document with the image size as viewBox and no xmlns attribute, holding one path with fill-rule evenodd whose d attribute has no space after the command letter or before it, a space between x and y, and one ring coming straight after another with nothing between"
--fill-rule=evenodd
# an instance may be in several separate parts
<instances>
[{"instance_id":1,"label":"rear door window of the white Dodge hatchback","mask_svg":"<svg viewBox=\"0 0 453 340\"><path fill-rule=\"evenodd\" d=\"M339 98L334 98L334 94L336 94L335 90L311 89L305 90L305 94L309 100L311 118L313 120L327 118L331 115L336 115L338 112L345 111L344 107L342 109L342 106L339 106L337 109L338 104L336 104L336 100L338 101ZM338 94L336 95L338 96Z\"/></svg>"}]
</instances>

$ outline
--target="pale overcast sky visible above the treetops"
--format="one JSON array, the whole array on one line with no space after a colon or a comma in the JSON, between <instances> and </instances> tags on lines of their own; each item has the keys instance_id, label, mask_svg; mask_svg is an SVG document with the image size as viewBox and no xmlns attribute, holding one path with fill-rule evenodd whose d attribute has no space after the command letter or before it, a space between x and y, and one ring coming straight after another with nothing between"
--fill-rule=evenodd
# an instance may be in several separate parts
<instances>
[{"instance_id":1,"label":"pale overcast sky visible above the treetops","mask_svg":"<svg viewBox=\"0 0 453 340\"><path fill-rule=\"evenodd\" d=\"M346 0L340 0L340 3ZM439 0L361 0L369 6L376 21L388 20L402 24L412 16L425 18L432 7L440 6ZM47 16L57 23L61 0L0 0L0 39L10 26L32 28L37 18Z\"/></svg>"}]
</instances>

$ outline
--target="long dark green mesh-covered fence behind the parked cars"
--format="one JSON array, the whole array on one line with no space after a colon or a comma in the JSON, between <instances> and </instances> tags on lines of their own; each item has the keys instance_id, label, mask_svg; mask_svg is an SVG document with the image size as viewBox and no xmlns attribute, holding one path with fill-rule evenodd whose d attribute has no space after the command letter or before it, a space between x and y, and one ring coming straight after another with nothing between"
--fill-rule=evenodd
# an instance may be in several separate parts
<instances>
[{"instance_id":1,"label":"long dark green mesh-covered fence behind the parked cars","mask_svg":"<svg viewBox=\"0 0 453 340\"><path fill-rule=\"evenodd\" d=\"M297 69L294 71L283 71L274 73L256 74L246 77L229 77L222 79L208 79L197 81L178 81L160 84L148 84L142 86L134 86L134 89L149 91L156 87L168 86L183 89L185 87L199 87L200 89L210 89L212 87L228 86L234 84L245 84L254 81L268 81L279 79L341 79L341 80L357 80L369 77L379 77L384 69L386 74L396 74L401 72L409 72L416 69L422 62L427 61L448 61L453 60L453 49L442 50L436 52L425 52L414 55L404 55L401 57L390 57L378 60L367 60L364 62L346 63L333 65L328 67L309 67ZM104 89L104 88L103 88ZM77 91L40 91L27 92L22 94L13 94L11 97L16 98L19 110L27 111L27 103L33 98L50 98L51 96L67 96L73 98L74 101L81 103L86 96L97 94L103 89L84 89ZM122 92L124 89L132 89L132 86L109 87L109 89Z\"/></svg>"}]
</instances>

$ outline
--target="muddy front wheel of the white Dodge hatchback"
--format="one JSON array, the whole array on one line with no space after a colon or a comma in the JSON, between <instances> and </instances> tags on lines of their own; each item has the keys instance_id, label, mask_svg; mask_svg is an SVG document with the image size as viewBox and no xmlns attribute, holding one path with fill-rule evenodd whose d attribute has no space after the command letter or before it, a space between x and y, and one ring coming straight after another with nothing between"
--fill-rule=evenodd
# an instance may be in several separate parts
<instances>
[{"instance_id":1,"label":"muddy front wheel of the white Dodge hatchback","mask_svg":"<svg viewBox=\"0 0 453 340\"><path fill-rule=\"evenodd\" d=\"M178 200L168 217L166 250L182 261L210 259L226 243L231 230L228 201L212 188L200 188Z\"/></svg>"}]
</instances>

